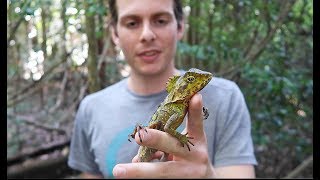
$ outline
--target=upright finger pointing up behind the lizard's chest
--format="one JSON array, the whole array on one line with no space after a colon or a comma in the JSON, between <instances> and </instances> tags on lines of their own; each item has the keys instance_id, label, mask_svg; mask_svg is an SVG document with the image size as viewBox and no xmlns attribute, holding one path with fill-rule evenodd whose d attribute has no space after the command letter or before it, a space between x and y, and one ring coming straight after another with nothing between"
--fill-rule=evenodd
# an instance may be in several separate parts
<instances>
[{"instance_id":1,"label":"upright finger pointing up behind the lizard's chest","mask_svg":"<svg viewBox=\"0 0 320 180\"><path fill-rule=\"evenodd\" d=\"M204 138L202 107L202 95L197 93L189 102L186 127L190 136L198 140Z\"/></svg>"}]
</instances>

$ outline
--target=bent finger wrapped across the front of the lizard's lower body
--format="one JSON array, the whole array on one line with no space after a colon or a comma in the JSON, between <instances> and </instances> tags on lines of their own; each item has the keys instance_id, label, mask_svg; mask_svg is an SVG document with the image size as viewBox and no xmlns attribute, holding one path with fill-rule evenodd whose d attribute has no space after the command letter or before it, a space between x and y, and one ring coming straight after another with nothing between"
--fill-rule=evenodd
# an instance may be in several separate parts
<instances>
[{"instance_id":1,"label":"bent finger wrapped across the front of the lizard's lower body","mask_svg":"<svg viewBox=\"0 0 320 180\"><path fill-rule=\"evenodd\" d=\"M190 151L186 146L182 147L181 143L170 134L156 129L148 129L148 132L140 130L142 142L136 133L135 140L139 145L158 149L162 152L167 152L179 157L190 156ZM192 150L191 150L192 151Z\"/></svg>"}]
</instances>

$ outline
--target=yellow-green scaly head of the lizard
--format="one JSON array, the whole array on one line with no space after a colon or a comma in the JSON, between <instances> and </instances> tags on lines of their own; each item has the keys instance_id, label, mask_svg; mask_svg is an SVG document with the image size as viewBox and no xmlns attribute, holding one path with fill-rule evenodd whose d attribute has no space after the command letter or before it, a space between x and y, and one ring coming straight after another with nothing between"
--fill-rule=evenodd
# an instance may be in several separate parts
<instances>
[{"instance_id":1,"label":"yellow-green scaly head of the lizard","mask_svg":"<svg viewBox=\"0 0 320 180\"><path fill-rule=\"evenodd\" d=\"M180 96L179 99L190 100L194 94L210 82L212 77L213 75L210 72L196 68L189 69L175 84L176 96Z\"/></svg>"}]
</instances>

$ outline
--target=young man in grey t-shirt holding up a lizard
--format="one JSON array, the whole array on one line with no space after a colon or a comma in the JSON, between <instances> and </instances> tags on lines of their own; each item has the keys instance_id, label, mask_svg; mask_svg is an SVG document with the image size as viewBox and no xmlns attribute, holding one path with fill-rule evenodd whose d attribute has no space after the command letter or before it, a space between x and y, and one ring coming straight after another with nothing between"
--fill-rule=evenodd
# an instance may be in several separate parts
<instances>
[{"instance_id":1,"label":"young man in grey t-shirt holding up a lizard","mask_svg":"<svg viewBox=\"0 0 320 180\"><path fill-rule=\"evenodd\" d=\"M140 130L142 143L170 154L166 162L137 162L137 143L127 141L137 123L147 125L167 92L177 42L184 33L178 0L113 0L111 33L131 67L130 76L87 96L77 112L68 164L83 177L183 178L255 177L250 116L238 86L213 80L189 103L182 127L194 137L191 151L171 135ZM202 106L209 118L203 121ZM179 129L178 129L179 130ZM132 162L132 163L131 163Z\"/></svg>"}]
</instances>

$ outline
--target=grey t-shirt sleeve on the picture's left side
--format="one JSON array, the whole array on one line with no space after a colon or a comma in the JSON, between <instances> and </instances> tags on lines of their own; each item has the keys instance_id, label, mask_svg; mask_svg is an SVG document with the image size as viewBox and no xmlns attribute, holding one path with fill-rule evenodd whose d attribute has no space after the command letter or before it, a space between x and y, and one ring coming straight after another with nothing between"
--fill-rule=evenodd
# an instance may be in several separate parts
<instances>
[{"instance_id":1,"label":"grey t-shirt sleeve on the picture's left side","mask_svg":"<svg viewBox=\"0 0 320 180\"><path fill-rule=\"evenodd\" d=\"M72 132L68 165L76 170L100 175L95 156L91 149L91 138L89 135L90 116L86 108L85 99L81 102L75 118Z\"/></svg>"}]
</instances>

